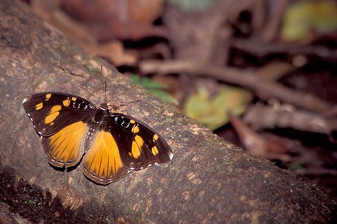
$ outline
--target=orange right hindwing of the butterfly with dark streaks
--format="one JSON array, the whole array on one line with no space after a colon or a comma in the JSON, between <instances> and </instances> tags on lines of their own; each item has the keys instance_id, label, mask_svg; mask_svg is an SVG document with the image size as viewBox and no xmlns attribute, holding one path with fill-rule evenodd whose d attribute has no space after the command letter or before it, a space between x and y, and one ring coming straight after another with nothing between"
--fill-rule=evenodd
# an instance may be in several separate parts
<instances>
[{"instance_id":1,"label":"orange right hindwing of the butterfly with dark streaks","mask_svg":"<svg viewBox=\"0 0 337 224\"><path fill-rule=\"evenodd\" d=\"M84 174L95 182L107 184L128 173L110 132L100 131L82 163Z\"/></svg>"}]
</instances>

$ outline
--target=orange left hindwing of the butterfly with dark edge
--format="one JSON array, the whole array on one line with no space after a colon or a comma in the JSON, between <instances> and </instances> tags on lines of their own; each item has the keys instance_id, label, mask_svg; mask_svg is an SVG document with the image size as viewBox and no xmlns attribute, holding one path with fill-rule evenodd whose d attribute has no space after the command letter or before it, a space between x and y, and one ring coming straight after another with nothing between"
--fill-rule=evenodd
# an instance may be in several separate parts
<instances>
[{"instance_id":1,"label":"orange left hindwing of the butterfly with dark edge","mask_svg":"<svg viewBox=\"0 0 337 224\"><path fill-rule=\"evenodd\" d=\"M44 138L44 150L55 167L77 165L82 155L81 142L88 129L81 121L63 128L51 137Z\"/></svg>"}]
</instances>

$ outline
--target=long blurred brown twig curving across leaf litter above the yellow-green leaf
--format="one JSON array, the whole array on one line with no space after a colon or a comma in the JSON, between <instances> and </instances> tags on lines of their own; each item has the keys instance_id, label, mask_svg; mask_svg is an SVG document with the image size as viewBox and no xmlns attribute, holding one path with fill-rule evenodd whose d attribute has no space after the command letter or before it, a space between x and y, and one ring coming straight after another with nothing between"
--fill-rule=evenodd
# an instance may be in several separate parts
<instances>
[{"instance_id":1,"label":"long blurred brown twig curving across leaf litter above the yellow-green leaf","mask_svg":"<svg viewBox=\"0 0 337 224\"><path fill-rule=\"evenodd\" d=\"M332 106L315 95L298 92L277 83L263 80L254 76L253 71L244 71L225 66L197 64L190 61L159 61L145 60L140 62L143 73L187 73L193 76L209 76L227 83L241 85L256 92L262 92L269 97L276 97L283 102L288 102L309 111L323 113L331 110Z\"/></svg>"}]
</instances>

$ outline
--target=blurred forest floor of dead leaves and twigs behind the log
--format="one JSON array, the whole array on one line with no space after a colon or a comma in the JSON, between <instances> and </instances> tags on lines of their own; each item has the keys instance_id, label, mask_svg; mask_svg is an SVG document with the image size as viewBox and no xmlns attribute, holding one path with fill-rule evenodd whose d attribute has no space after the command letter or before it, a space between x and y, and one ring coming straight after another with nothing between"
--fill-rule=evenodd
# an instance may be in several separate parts
<instances>
[{"instance_id":1,"label":"blurred forest floor of dead leaves and twigs behind the log","mask_svg":"<svg viewBox=\"0 0 337 224\"><path fill-rule=\"evenodd\" d=\"M48 26L337 198L337 2L32 0Z\"/></svg>"}]
</instances>

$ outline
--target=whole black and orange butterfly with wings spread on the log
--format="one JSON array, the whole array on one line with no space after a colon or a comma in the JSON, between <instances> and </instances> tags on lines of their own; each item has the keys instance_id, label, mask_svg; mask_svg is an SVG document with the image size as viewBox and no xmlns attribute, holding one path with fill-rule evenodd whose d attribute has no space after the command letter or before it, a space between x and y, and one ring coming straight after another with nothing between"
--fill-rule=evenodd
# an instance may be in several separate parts
<instances>
[{"instance_id":1,"label":"whole black and orange butterfly with wings spread on the log","mask_svg":"<svg viewBox=\"0 0 337 224\"><path fill-rule=\"evenodd\" d=\"M41 92L23 100L23 108L42 137L46 158L55 167L81 164L95 183L118 181L132 170L169 162L169 144L145 123L97 109L86 99L60 92Z\"/></svg>"}]
</instances>

